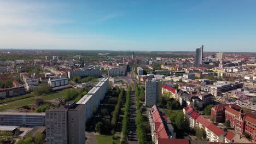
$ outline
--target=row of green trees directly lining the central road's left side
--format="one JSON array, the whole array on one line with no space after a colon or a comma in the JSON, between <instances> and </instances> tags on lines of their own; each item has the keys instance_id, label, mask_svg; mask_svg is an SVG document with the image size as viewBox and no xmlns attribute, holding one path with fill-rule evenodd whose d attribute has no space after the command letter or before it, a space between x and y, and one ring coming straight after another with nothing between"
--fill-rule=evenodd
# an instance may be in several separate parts
<instances>
[{"instance_id":1,"label":"row of green trees directly lining the central road's left side","mask_svg":"<svg viewBox=\"0 0 256 144\"><path fill-rule=\"evenodd\" d=\"M131 87L127 88L126 100L124 107L124 119L123 119L123 140L121 143L127 143L127 135L130 124L130 105L131 105Z\"/></svg>"}]
</instances>

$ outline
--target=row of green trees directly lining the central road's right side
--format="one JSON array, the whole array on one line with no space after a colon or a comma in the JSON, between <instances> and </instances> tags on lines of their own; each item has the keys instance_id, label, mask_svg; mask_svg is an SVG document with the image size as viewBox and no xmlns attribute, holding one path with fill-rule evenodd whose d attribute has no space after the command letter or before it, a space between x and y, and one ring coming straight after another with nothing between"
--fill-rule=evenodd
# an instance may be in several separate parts
<instances>
[{"instance_id":1,"label":"row of green trees directly lining the central road's right side","mask_svg":"<svg viewBox=\"0 0 256 144\"><path fill-rule=\"evenodd\" d=\"M137 109L137 115L136 115L136 120L135 124L137 126L137 137L138 137L138 143L139 144L146 144L147 139L146 139L146 128L148 127L147 122L144 121L143 116L142 116L142 111L141 111L141 106L142 104L139 102L141 100L141 92L143 88L140 88L138 84L135 86L135 94L136 94L136 109Z\"/></svg>"}]
</instances>

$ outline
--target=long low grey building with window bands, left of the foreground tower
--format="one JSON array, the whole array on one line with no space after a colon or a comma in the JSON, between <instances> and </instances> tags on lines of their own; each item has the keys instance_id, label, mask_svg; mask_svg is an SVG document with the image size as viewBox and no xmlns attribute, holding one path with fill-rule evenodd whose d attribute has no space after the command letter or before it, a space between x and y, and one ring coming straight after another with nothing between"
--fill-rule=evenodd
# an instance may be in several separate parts
<instances>
[{"instance_id":1,"label":"long low grey building with window bands, left of the foreground tower","mask_svg":"<svg viewBox=\"0 0 256 144\"><path fill-rule=\"evenodd\" d=\"M20 127L44 126L44 118L44 112L0 112L1 125L16 125Z\"/></svg>"}]
</instances>

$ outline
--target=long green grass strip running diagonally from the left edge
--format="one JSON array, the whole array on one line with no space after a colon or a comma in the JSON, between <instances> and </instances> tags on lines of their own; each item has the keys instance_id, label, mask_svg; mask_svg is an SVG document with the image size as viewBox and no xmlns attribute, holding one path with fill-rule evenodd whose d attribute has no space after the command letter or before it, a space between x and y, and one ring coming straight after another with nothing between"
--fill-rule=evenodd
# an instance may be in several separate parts
<instances>
[{"instance_id":1,"label":"long green grass strip running diagonally from the left edge","mask_svg":"<svg viewBox=\"0 0 256 144\"><path fill-rule=\"evenodd\" d=\"M45 94L45 95L40 95L40 96L36 96L36 97L32 97L32 98L11 101L9 103L1 104L0 111L4 111L7 109L16 109L18 107L25 106L25 105L32 105L34 100L39 99L39 98L43 99L44 101L61 98L64 96L64 93L65 93L65 90L62 90L62 91L51 93L51 94Z\"/></svg>"}]
</instances>

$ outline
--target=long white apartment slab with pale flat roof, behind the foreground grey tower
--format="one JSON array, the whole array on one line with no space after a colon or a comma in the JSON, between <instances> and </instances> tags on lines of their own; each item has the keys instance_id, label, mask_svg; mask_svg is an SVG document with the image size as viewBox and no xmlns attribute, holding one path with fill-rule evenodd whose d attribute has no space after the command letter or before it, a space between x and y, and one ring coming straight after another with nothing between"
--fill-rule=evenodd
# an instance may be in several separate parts
<instances>
[{"instance_id":1,"label":"long white apartment slab with pale flat roof, behind the foreground grey tower","mask_svg":"<svg viewBox=\"0 0 256 144\"><path fill-rule=\"evenodd\" d=\"M94 107L100 105L100 101L105 97L106 92L108 92L108 78L104 77L77 102L77 104L85 105L85 122L92 117Z\"/></svg>"}]
</instances>

